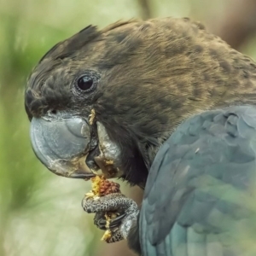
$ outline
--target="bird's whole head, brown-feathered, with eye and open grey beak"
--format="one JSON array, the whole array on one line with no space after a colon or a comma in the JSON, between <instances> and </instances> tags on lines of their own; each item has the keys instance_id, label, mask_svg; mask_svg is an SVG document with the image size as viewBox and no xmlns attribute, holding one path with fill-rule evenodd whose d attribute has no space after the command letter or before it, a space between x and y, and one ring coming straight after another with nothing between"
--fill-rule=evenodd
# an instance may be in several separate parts
<instances>
[{"instance_id":1,"label":"bird's whole head, brown-feathered, with eye and open grey beak","mask_svg":"<svg viewBox=\"0 0 256 256\"><path fill-rule=\"evenodd\" d=\"M87 26L50 49L28 79L35 154L64 177L102 172L143 187L177 124L220 101L231 77L227 49L189 19Z\"/></svg>"}]
</instances>

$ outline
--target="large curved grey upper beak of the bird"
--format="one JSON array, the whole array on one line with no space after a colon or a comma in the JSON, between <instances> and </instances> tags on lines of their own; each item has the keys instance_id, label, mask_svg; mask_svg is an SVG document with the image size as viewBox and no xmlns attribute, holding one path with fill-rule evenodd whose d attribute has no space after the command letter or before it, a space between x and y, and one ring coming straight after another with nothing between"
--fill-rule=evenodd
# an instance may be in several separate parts
<instances>
[{"instance_id":1,"label":"large curved grey upper beak of the bird","mask_svg":"<svg viewBox=\"0 0 256 256\"><path fill-rule=\"evenodd\" d=\"M79 117L32 118L30 137L38 159L63 177L95 176L85 164L90 150L90 126Z\"/></svg>"}]
</instances>

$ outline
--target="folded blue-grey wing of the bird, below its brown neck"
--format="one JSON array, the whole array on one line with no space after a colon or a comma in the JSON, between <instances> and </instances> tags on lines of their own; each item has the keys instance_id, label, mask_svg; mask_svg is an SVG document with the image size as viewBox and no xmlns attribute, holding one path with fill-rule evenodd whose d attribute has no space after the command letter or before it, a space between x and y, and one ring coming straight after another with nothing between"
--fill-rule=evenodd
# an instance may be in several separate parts
<instances>
[{"instance_id":1,"label":"folded blue-grey wing of the bird, below its brown neck","mask_svg":"<svg viewBox=\"0 0 256 256\"><path fill-rule=\"evenodd\" d=\"M253 210L256 108L230 107L186 120L148 174L140 238L144 256L230 256ZM251 219L252 221L252 219Z\"/></svg>"}]
</instances>

